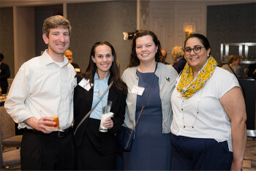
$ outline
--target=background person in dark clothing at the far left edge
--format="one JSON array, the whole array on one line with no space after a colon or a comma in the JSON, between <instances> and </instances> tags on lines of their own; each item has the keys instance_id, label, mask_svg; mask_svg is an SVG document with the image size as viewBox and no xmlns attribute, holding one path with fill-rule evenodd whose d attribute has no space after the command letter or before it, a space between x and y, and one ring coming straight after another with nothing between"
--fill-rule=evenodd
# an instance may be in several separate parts
<instances>
[{"instance_id":1,"label":"background person in dark clothing at the far left edge","mask_svg":"<svg viewBox=\"0 0 256 171\"><path fill-rule=\"evenodd\" d=\"M10 77L10 69L7 64L4 64L4 55L0 53L0 87L1 94L7 94L8 81L7 78Z\"/></svg>"}]
</instances>

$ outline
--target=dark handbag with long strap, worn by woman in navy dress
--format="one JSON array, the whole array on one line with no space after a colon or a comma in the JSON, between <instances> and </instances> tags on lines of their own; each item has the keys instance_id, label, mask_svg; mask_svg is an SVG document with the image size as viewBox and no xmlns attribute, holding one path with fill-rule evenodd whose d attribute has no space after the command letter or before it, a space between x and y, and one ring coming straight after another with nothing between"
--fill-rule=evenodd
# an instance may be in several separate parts
<instances>
[{"instance_id":1,"label":"dark handbag with long strap, worn by woman in navy dress","mask_svg":"<svg viewBox=\"0 0 256 171\"><path fill-rule=\"evenodd\" d=\"M156 66L156 69L155 69L154 72L156 72L156 70L157 70L157 66ZM153 76L153 78L151 80L151 85L150 85L150 87L148 89L148 94L149 94L149 91L151 89L152 83L154 81L154 77L155 77L155 75ZM146 100L148 99L148 94L146 95L146 99L143 102L143 106L142 106L142 108L140 110L140 115L143 112L143 109L145 107ZM138 124L138 121L140 119L140 115L138 116L138 119L137 119L136 124L133 127L133 129L129 129L129 128L125 127L125 126L121 126L121 129L119 130L119 132L117 134L117 137L116 137L117 144L121 148L123 148L123 150L126 151L126 152L129 152L129 151L132 150L132 142L133 142L133 139L135 137L135 128L136 128L136 126Z\"/></svg>"}]
</instances>

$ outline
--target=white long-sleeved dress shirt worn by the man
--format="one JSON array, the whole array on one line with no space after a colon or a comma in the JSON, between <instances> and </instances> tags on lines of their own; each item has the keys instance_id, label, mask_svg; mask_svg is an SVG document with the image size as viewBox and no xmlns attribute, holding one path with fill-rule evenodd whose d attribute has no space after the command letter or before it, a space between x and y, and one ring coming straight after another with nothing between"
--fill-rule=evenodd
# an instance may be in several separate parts
<instances>
[{"instance_id":1,"label":"white long-sleeved dress shirt worn by the man","mask_svg":"<svg viewBox=\"0 0 256 171\"><path fill-rule=\"evenodd\" d=\"M75 69L67 58L57 63L45 50L20 67L4 107L19 129L31 129L23 123L26 119L44 116L58 116L60 129L67 129L73 120L75 86Z\"/></svg>"}]
</instances>

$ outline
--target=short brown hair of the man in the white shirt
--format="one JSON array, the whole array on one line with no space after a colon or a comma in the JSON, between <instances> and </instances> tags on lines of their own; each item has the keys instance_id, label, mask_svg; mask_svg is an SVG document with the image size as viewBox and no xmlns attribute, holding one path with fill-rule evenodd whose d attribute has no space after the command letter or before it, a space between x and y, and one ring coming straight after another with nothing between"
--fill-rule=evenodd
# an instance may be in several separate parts
<instances>
[{"instance_id":1,"label":"short brown hair of the man in the white shirt","mask_svg":"<svg viewBox=\"0 0 256 171\"><path fill-rule=\"evenodd\" d=\"M46 34L49 37L50 28L68 28L69 35L71 34L71 26L69 20L64 18L61 15L54 15L50 18L46 18L43 25L42 25L42 34Z\"/></svg>"}]
</instances>

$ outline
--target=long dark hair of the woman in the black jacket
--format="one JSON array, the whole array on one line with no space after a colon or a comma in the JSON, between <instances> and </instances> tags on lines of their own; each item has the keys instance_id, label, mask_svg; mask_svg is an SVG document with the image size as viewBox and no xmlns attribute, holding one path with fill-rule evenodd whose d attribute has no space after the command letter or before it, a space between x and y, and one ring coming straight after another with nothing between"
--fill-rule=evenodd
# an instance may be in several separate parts
<instances>
[{"instance_id":1,"label":"long dark hair of the woman in the black jacket","mask_svg":"<svg viewBox=\"0 0 256 171\"><path fill-rule=\"evenodd\" d=\"M90 80L90 83L94 83L94 75L95 72L97 72L97 65L92 61L91 56L95 57L95 48L99 45L107 45L111 49L111 53L113 56L113 62L112 65L109 69L110 71L110 80L113 81L113 86L115 86L118 90L123 91L124 94L127 94L127 85L124 83L123 80L121 80L120 77L120 69L118 68L116 64L116 51L114 50L113 45L110 44L110 42L107 41L101 41L101 42L96 42L94 45L91 47L91 53L89 57L89 65L87 66L86 72L81 73L82 77L84 77L86 80Z\"/></svg>"}]
</instances>

